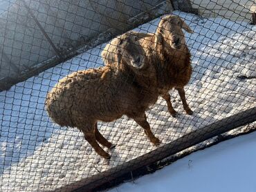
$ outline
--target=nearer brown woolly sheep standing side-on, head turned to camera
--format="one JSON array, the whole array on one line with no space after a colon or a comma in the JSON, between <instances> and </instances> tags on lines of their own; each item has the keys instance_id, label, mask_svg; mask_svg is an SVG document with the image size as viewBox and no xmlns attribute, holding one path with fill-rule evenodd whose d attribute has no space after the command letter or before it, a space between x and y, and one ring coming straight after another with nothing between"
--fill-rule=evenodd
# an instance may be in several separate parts
<instances>
[{"instance_id":1,"label":"nearer brown woolly sheep standing side-on, head turned to camera","mask_svg":"<svg viewBox=\"0 0 256 192\"><path fill-rule=\"evenodd\" d=\"M111 156L101 146L113 144L98 131L97 122L112 122L122 115L143 127L154 144L154 136L145 111L156 103L156 73L134 35L121 35L117 41L113 66L79 70L60 79L46 95L46 111L60 126L76 127L98 155Z\"/></svg>"}]
</instances>

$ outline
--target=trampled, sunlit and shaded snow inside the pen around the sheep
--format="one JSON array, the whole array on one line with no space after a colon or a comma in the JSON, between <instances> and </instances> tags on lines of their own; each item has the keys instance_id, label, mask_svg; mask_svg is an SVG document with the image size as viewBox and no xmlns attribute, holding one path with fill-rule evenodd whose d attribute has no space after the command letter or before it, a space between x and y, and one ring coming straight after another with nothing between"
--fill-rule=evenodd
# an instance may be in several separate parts
<instances>
[{"instance_id":1,"label":"trampled, sunlit and shaded snow inside the pen around the sheep","mask_svg":"<svg viewBox=\"0 0 256 192\"><path fill-rule=\"evenodd\" d=\"M166 103L158 99L147 117L163 144L256 105L255 79L237 78L256 75L256 27L174 14L194 30L192 35L185 33L194 68L185 90L194 115L185 115L176 91L172 91L172 99L180 113L177 118L171 117ZM159 21L136 30L154 32ZM44 111L46 93L60 78L78 69L102 66L102 48L104 45L93 48L0 93L0 191L53 190L156 148L132 119L99 123L101 133L117 144L107 164L84 141L82 133L53 124Z\"/></svg>"}]
</instances>

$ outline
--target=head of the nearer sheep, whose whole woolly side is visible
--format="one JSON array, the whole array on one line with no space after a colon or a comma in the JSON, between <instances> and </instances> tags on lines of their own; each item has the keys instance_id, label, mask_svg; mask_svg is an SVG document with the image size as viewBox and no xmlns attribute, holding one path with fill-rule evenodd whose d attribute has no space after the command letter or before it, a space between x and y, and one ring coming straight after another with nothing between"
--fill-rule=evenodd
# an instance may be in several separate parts
<instances>
[{"instance_id":1,"label":"head of the nearer sheep, whose whole woolly side is visible","mask_svg":"<svg viewBox=\"0 0 256 192\"><path fill-rule=\"evenodd\" d=\"M121 61L132 69L142 69L145 66L145 52L138 41L139 37L134 32L121 35L116 49L116 61Z\"/></svg>"}]
</instances>

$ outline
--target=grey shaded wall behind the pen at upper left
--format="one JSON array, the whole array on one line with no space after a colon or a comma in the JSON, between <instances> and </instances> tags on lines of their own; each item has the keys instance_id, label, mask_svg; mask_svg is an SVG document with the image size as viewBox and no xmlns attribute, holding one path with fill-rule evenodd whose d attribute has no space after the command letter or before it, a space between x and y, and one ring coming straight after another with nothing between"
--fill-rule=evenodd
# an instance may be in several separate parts
<instances>
[{"instance_id":1,"label":"grey shaded wall behind the pen at upper left","mask_svg":"<svg viewBox=\"0 0 256 192\"><path fill-rule=\"evenodd\" d=\"M163 0L5 0L0 11L0 79L19 76L47 59L83 46ZM26 3L27 7L24 6ZM0 8L1 10L1 8ZM7 11L6 11L7 10ZM154 14L154 13L152 13ZM40 29L41 27L41 29Z\"/></svg>"}]
</instances>

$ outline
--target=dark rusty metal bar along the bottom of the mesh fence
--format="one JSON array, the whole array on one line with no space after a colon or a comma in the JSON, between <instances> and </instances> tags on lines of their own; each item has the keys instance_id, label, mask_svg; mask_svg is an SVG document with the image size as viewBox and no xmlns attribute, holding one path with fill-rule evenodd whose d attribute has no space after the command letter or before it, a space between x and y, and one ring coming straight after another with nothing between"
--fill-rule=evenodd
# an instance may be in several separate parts
<instances>
[{"instance_id":1,"label":"dark rusty metal bar along the bottom of the mesh fence","mask_svg":"<svg viewBox=\"0 0 256 192\"><path fill-rule=\"evenodd\" d=\"M130 171L139 169L143 166L147 166L162 160L165 157L169 157L170 155L174 155L175 153L183 151L185 148L189 148L190 146L199 144L214 136L220 135L221 133L225 133L239 126L244 126L245 124L249 124L255 121L256 106L246 111L237 113L236 115L232 115L231 117L221 119L217 122L209 124L208 126L204 126L203 128L198 128L196 131L185 134L182 137L179 137L179 139L156 148L156 150L137 157L134 160L115 166L112 169L102 173L98 173L98 175L87 177L84 180L80 180L79 182L63 186L56 191L92 191L95 187L114 180L117 177L120 177L120 175L124 175Z\"/></svg>"}]
</instances>

